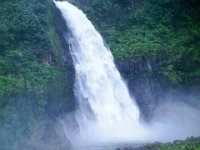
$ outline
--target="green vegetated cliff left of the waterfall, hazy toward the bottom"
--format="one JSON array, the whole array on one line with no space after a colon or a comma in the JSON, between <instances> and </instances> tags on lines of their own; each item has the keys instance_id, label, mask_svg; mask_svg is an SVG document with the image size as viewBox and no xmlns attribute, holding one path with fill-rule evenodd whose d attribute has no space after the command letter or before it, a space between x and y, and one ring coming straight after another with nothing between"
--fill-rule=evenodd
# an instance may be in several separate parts
<instances>
[{"instance_id":1,"label":"green vegetated cliff left of the waterfall, hazy toward the bottom","mask_svg":"<svg viewBox=\"0 0 200 150\"><path fill-rule=\"evenodd\" d=\"M0 14L0 149L13 150L71 109L72 79L51 0L1 0Z\"/></svg>"}]
</instances>

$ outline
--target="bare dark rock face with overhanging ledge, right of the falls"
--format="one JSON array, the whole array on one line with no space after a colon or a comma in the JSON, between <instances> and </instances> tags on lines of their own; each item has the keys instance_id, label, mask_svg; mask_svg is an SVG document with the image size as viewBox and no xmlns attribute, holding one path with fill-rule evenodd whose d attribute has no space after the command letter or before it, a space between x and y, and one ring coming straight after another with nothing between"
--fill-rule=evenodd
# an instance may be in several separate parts
<instances>
[{"instance_id":1,"label":"bare dark rock face with overhanging ledge, right of the falls","mask_svg":"<svg viewBox=\"0 0 200 150\"><path fill-rule=\"evenodd\" d=\"M159 68L155 58L140 61L120 60L116 65L127 80L130 94L135 97L141 110L141 117L149 121L156 106L160 103L167 79L157 73Z\"/></svg>"}]
</instances>

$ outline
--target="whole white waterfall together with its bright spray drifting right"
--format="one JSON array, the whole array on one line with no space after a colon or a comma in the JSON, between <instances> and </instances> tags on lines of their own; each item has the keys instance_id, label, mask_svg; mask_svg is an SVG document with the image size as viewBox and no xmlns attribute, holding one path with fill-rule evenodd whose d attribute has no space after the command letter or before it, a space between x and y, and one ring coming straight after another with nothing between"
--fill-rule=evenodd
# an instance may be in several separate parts
<instances>
[{"instance_id":1,"label":"whole white waterfall together with its bright spray drifting right","mask_svg":"<svg viewBox=\"0 0 200 150\"><path fill-rule=\"evenodd\" d=\"M135 100L130 97L101 35L81 10L66 1L55 4L70 31L65 37L70 43L76 71L78 109L75 118L79 130L75 132L63 122L66 135L75 144L163 141L200 134L200 120L196 117L199 111L181 105L177 105L178 109L176 105L166 105L167 109L163 107L157 112L162 116L158 116L156 122L142 125Z\"/></svg>"}]
</instances>

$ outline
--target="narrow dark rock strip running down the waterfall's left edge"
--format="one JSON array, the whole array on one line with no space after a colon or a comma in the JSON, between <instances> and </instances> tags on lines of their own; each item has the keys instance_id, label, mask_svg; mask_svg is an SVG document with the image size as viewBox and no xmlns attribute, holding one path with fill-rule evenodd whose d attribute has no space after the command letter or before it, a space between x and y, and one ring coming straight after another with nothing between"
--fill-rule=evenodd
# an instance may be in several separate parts
<instances>
[{"instance_id":1,"label":"narrow dark rock strip running down the waterfall's left edge","mask_svg":"<svg viewBox=\"0 0 200 150\"><path fill-rule=\"evenodd\" d=\"M65 78L63 79L63 82L66 82L65 86L65 95L64 97L61 97L60 101L52 102L52 108L54 108L54 114L56 116L65 115L66 112L71 112L75 110L76 107L76 98L74 95L74 81L75 81L75 69L73 66L73 60L72 56L70 54L70 45L67 42L67 36L69 34L69 30L67 28L66 22L62 17L62 14L59 9L56 8L55 5L52 7L52 20L53 25L56 31L56 34L58 35L58 40L60 42L60 49L61 52L61 60L64 67L65 67ZM52 91L52 93L54 93ZM64 101L63 98L68 99L68 101ZM56 99L56 97L55 97ZM63 103L65 102L65 103ZM55 105L57 107L55 107ZM67 106L66 106L67 105ZM51 106L48 106L48 108L51 108Z\"/></svg>"}]
</instances>

